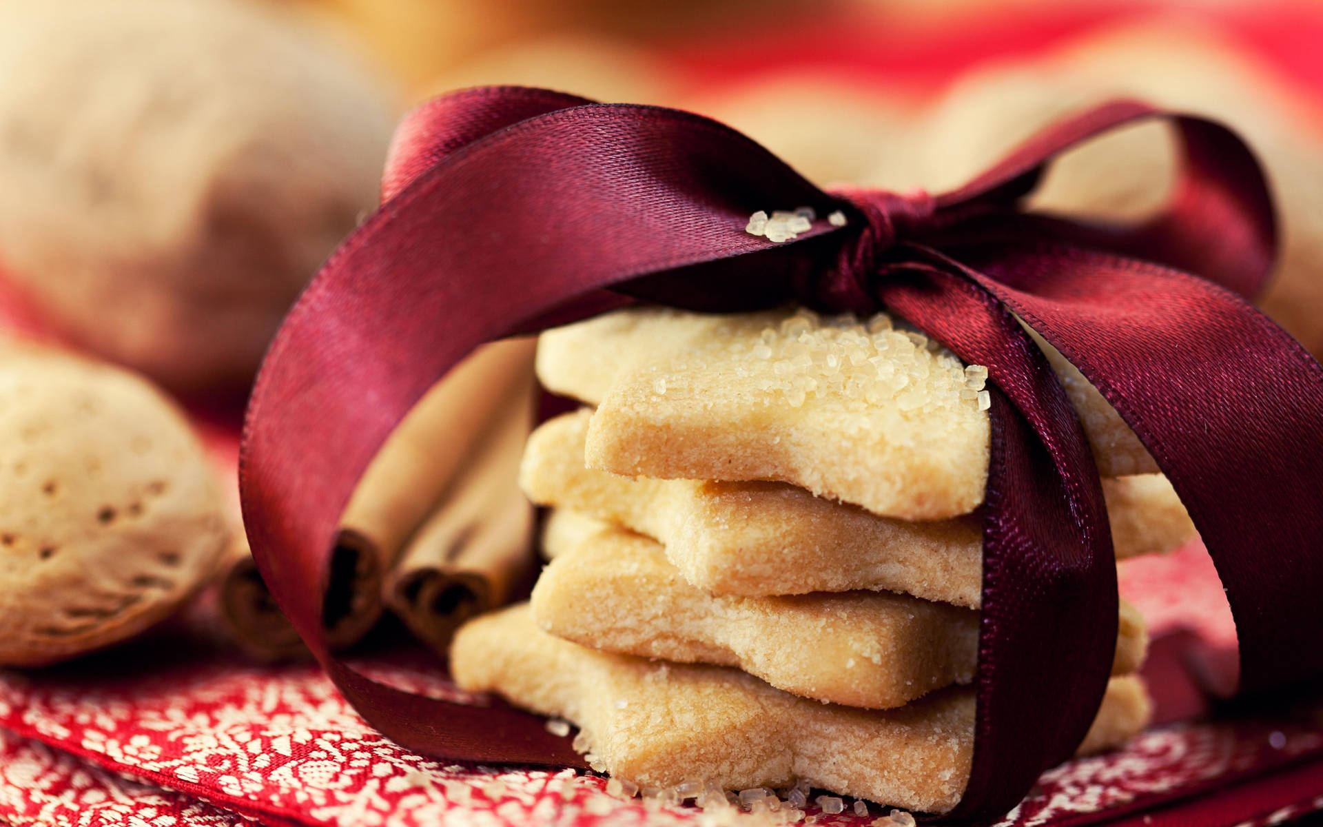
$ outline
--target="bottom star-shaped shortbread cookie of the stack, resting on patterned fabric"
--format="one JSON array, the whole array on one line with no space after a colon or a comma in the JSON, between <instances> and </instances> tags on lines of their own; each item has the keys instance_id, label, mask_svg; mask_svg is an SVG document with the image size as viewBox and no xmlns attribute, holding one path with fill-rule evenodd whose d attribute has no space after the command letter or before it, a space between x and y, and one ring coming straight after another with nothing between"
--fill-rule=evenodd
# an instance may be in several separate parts
<instances>
[{"instance_id":1,"label":"bottom star-shaped shortbread cookie of the stack, resting on patterned fabric","mask_svg":"<svg viewBox=\"0 0 1323 827\"><path fill-rule=\"evenodd\" d=\"M642 786L697 779L725 789L806 781L844 795L943 812L968 781L974 693L946 689L889 711L823 704L738 670L597 652L549 635L527 605L483 615L455 636L451 675L581 728L590 762ZM1148 701L1114 677L1086 740L1117 746Z\"/></svg>"}]
</instances>

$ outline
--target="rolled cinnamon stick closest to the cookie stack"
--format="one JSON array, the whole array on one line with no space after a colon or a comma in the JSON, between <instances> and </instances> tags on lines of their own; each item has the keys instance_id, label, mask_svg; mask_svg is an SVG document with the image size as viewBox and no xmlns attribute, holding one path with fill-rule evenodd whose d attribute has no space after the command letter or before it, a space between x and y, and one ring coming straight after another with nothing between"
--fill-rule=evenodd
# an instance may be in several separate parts
<instances>
[{"instance_id":1,"label":"rolled cinnamon stick closest to the cookie stack","mask_svg":"<svg viewBox=\"0 0 1323 827\"><path fill-rule=\"evenodd\" d=\"M508 602L533 565L533 507L517 484L533 425L532 380L493 419L388 576L388 606L438 652L466 619Z\"/></svg>"}]
</instances>

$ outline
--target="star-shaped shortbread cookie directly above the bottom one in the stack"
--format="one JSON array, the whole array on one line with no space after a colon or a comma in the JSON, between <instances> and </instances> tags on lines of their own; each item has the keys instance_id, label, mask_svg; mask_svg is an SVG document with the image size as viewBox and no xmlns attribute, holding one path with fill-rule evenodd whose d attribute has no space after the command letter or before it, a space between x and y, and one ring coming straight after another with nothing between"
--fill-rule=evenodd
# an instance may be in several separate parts
<instances>
[{"instance_id":1,"label":"star-shaped shortbread cookie directly above the bottom one in the stack","mask_svg":"<svg viewBox=\"0 0 1323 827\"><path fill-rule=\"evenodd\" d=\"M733 666L794 695L869 709L968 684L978 663L972 609L889 591L713 595L685 582L656 541L623 529L558 554L532 611L545 631L591 648ZM1144 638L1142 621L1121 625L1113 674L1135 670Z\"/></svg>"}]
</instances>

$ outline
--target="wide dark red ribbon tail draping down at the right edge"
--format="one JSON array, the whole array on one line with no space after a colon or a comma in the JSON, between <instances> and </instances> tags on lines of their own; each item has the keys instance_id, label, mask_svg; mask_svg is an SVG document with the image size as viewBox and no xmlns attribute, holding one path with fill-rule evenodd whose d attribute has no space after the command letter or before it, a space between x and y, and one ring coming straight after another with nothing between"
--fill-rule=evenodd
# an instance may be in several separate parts
<instances>
[{"instance_id":1,"label":"wide dark red ribbon tail draping down at the right edge","mask_svg":"<svg viewBox=\"0 0 1323 827\"><path fill-rule=\"evenodd\" d=\"M984 253L972 277L1080 368L1189 511L1236 619L1241 693L1323 677L1323 367L1187 273L1070 246Z\"/></svg>"}]
</instances>

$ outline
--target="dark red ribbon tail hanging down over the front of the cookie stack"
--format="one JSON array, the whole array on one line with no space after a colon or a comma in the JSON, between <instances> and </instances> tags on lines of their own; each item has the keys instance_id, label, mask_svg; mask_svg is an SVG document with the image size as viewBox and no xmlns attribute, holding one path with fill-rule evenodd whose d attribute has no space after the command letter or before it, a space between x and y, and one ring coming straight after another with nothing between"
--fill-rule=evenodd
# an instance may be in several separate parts
<instances>
[{"instance_id":1,"label":"dark red ribbon tail hanging down over the front of the cookie stack","mask_svg":"<svg viewBox=\"0 0 1323 827\"><path fill-rule=\"evenodd\" d=\"M994 296L923 265L884 273L878 296L994 385L974 757L943 816L991 823L1074 753L1106 691L1118 602L1106 505L1065 392Z\"/></svg>"}]
</instances>

